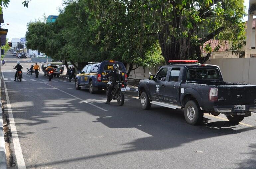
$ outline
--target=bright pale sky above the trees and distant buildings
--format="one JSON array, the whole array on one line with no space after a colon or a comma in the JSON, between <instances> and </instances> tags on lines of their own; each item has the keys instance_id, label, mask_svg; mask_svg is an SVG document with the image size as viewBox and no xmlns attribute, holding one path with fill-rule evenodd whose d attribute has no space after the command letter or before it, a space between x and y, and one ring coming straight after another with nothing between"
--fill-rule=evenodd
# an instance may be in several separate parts
<instances>
[{"instance_id":1,"label":"bright pale sky above the trees and distant buildings","mask_svg":"<svg viewBox=\"0 0 256 169\"><path fill-rule=\"evenodd\" d=\"M10 0L8 8L3 9L4 21L9 25L3 25L2 28L8 29L7 38L25 37L27 31L27 23L42 19L45 14L59 15L58 9L62 7L62 0L31 0L28 8L25 8L21 3L24 0ZM246 5L246 13L248 11L249 0L244 0ZM247 16L244 17L247 21Z\"/></svg>"}]
</instances>

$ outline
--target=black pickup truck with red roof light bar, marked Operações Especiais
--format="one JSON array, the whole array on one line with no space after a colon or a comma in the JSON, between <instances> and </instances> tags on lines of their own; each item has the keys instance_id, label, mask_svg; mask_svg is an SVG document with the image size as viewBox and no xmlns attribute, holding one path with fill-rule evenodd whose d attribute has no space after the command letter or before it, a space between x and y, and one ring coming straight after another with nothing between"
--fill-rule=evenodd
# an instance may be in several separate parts
<instances>
[{"instance_id":1,"label":"black pickup truck with red roof light bar, marked Opera\u00e7\u00f5es Especiais","mask_svg":"<svg viewBox=\"0 0 256 169\"><path fill-rule=\"evenodd\" d=\"M187 123L202 122L203 113L223 113L231 122L240 122L256 111L256 85L224 82L216 65L198 61L169 61L155 76L141 80L138 95L141 107L151 104L184 108Z\"/></svg>"}]
</instances>

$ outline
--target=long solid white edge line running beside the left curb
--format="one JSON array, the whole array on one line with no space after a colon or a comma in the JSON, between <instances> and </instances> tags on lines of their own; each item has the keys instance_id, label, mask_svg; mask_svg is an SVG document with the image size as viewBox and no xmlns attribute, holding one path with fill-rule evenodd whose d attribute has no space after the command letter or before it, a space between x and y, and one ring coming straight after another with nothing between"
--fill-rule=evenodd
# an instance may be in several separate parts
<instances>
[{"instance_id":1,"label":"long solid white edge line running beside the left curb","mask_svg":"<svg viewBox=\"0 0 256 169\"><path fill-rule=\"evenodd\" d=\"M18 164L19 169L26 169L25 161L23 158L21 146L20 146L20 141L17 133L17 129L15 126L13 114L12 114L12 107L9 99L9 95L7 92L6 84L4 82L4 90L5 90L5 95L6 95L6 105L7 105L7 111L9 114L9 121L10 121L10 126L11 126L11 132L12 132L12 139L13 139L13 146L14 146L14 151L16 155L16 160Z\"/></svg>"}]
</instances>

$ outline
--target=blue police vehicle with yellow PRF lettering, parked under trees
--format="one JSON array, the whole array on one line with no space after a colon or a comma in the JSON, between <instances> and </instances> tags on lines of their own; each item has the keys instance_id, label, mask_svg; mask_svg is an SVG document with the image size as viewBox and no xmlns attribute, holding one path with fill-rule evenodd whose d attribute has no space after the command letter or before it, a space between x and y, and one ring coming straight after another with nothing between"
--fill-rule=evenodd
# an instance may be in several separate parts
<instances>
[{"instance_id":1,"label":"blue police vehicle with yellow PRF lettering, parked under trees","mask_svg":"<svg viewBox=\"0 0 256 169\"><path fill-rule=\"evenodd\" d=\"M127 74L125 66L118 61L103 61L101 63L90 63L84 66L82 71L78 71L75 77L75 88L80 90L81 87L88 88L90 93L97 90L106 89L108 79L103 78L104 75L113 69L113 64L119 65L119 70L122 71L123 81L127 82Z\"/></svg>"}]
</instances>

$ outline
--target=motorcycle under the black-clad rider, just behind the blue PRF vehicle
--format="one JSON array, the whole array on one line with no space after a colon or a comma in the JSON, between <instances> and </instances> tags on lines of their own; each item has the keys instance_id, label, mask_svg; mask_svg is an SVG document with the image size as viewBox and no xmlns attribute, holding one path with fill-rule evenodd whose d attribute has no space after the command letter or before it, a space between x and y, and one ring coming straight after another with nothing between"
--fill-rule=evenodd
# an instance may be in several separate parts
<instances>
[{"instance_id":1,"label":"motorcycle under the black-clad rider, just behind the blue PRF vehicle","mask_svg":"<svg viewBox=\"0 0 256 169\"><path fill-rule=\"evenodd\" d=\"M111 100L117 100L117 103L119 106L124 105L124 93L126 91L127 84L125 82L117 82L117 85L113 86L111 77L108 77L108 83L107 83L107 89L111 86L114 87L111 92L111 97L109 102Z\"/></svg>"}]
</instances>

